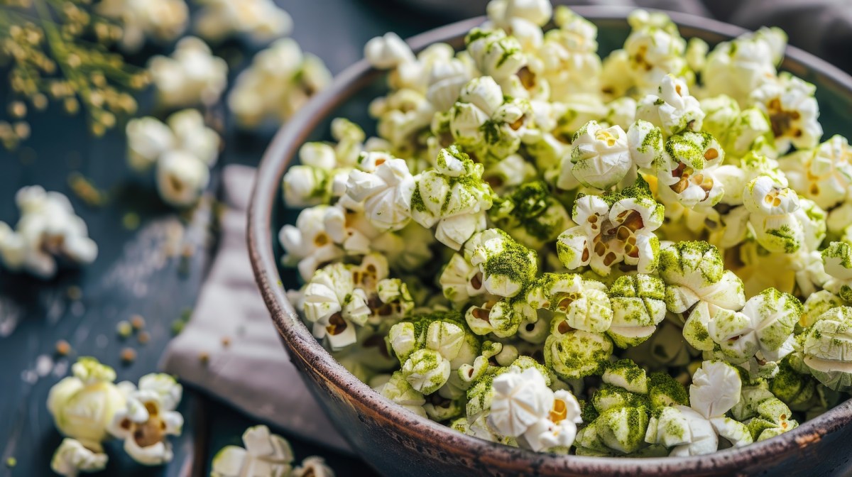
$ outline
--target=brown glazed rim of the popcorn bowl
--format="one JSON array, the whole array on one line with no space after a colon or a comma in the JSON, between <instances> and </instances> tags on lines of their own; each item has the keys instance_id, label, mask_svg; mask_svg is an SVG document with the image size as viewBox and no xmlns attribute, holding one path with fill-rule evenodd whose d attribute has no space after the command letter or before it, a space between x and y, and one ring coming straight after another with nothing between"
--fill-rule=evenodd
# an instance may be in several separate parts
<instances>
[{"instance_id":1,"label":"brown glazed rim of the popcorn bowl","mask_svg":"<svg viewBox=\"0 0 852 477\"><path fill-rule=\"evenodd\" d=\"M630 6L576 6L572 10L596 24L602 22L623 22ZM694 30L705 36L719 37L720 40L737 37L748 30L718 20L707 19L692 14L669 12L681 32ZM441 26L428 32L409 38L407 43L415 52L431 43L458 42L474 26L481 25L485 17L475 17ZM683 34L689 37L688 34ZM787 46L782 67L796 72L797 69L810 70L821 77L823 87L828 85L839 92L852 97L852 77L832 66L825 60L792 46ZM350 397L360 399L362 405L394 427L396 432L417 434L423 440L431 440L447 451L461 453L475 461L504 465L513 468L523 465L533 468L537 473L556 474L570 470L573 473L625 473L625 474L678 474L688 471L734 472L772 457L782 458L786 453L803 449L819 442L822 436L832 433L844 424L852 421L852 399L826 411L820 417L803 422L778 437L746 445L739 449L725 449L712 454L695 457L586 457L561 456L550 453L533 452L525 449L500 445L477 439L448 428L443 424L419 417L412 411L394 404L389 399L373 391L366 383L349 373L343 365L331 357L320 345L308 327L298 318L281 286L278 264L273 255L273 233L271 229L273 206L280 200L280 183L291 159L298 148L307 140L308 135L327 117L331 111L347 101L357 91L371 83L384 72L373 69L366 60L359 60L348 66L334 78L331 86L314 96L296 113L291 121L279 129L273 137L261 164L257 170L248 211L247 239L251 266L256 283L261 290L263 301L268 307L279 334L290 353L296 353L302 363L337 388L345 390ZM345 437L345 436L344 436Z\"/></svg>"}]
</instances>

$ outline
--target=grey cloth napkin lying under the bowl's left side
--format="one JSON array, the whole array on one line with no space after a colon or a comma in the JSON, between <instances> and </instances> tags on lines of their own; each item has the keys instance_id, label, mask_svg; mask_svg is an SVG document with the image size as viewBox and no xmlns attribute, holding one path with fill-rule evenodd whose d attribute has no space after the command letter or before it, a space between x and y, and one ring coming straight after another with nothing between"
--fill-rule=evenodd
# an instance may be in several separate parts
<instances>
[{"instance_id":1,"label":"grey cloth napkin lying under the bowl's left side","mask_svg":"<svg viewBox=\"0 0 852 477\"><path fill-rule=\"evenodd\" d=\"M255 172L241 165L222 171L219 250L192 318L160 367L252 417L350 452L298 376L257 290L245 242Z\"/></svg>"}]
</instances>

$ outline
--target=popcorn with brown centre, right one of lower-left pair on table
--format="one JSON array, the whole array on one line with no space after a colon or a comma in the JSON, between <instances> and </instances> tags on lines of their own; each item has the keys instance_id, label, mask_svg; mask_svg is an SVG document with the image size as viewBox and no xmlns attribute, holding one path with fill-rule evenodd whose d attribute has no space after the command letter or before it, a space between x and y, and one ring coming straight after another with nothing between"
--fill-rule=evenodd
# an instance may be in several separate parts
<instances>
[{"instance_id":1,"label":"popcorn with brown centre, right one of lower-left pair on table","mask_svg":"<svg viewBox=\"0 0 852 477\"><path fill-rule=\"evenodd\" d=\"M146 379L147 378L147 379ZM124 383L126 407L112 417L109 431L124 440L124 451L133 460L145 465L168 463L174 457L166 436L180 435L183 417L175 411L181 400L182 388L175 378L167 375L148 375L139 388Z\"/></svg>"}]
</instances>

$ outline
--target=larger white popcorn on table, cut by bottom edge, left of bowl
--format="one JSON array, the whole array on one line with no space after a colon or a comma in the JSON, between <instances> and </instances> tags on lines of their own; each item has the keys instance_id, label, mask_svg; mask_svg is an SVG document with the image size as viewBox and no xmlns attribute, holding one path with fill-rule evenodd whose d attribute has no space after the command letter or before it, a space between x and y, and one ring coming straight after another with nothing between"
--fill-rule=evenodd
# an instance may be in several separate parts
<instances>
[{"instance_id":1,"label":"larger white popcorn on table, cut by bottom edge, left of bowl","mask_svg":"<svg viewBox=\"0 0 852 477\"><path fill-rule=\"evenodd\" d=\"M283 437L263 425L245 429L243 445L226 445L213 457L211 477L289 475L293 450ZM307 459L306 459L307 460Z\"/></svg>"}]
</instances>

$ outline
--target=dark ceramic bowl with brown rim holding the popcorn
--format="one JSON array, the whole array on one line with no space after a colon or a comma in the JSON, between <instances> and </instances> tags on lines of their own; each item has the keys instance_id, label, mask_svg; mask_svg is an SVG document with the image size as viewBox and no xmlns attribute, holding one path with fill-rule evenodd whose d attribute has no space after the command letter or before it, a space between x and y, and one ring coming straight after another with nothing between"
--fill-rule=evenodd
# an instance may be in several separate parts
<instances>
[{"instance_id":1,"label":"dark ceramic bowl with brown rim holding the popcorn","mask_svg":"<svg viewBox=\"0 0 852 477\"><path fill-rule=\"evenodd\" d=\"M629 32L630 8L577 7L599 28L600 53L618 48ZM714 44L745 30L688 14L671 14L683 37ZM484 19L444 26L409 40L415 51L435 42L463 47L465 32ZM852 78L826 62L788 47L781 69L817 86L825 137L852 124ZM493 444L418 417L374 392L338 364L302 324L287 301L285 288L297 286L296 273L279 268L276 236L297 211L281 198L281 178L305 141L328 139L331 118L345 116L360 124L368 102L385 91L385 74L361 60L342 72L279 130L258 170L249 210L250 260L269 313L290 357L321 407L354 451L380 473L426 475L640 475L830 474L848 466L852 439L852 400L779 437L702 457L605 458L556 456ZM371 133L369 127L366 132ZM771 273L768 271L768 273ZM283 285L283 286L282 286ZM274 376L270 376L271 379ZM273 399L273 397L271 397Z\"/></svg>"}]
</instances>

